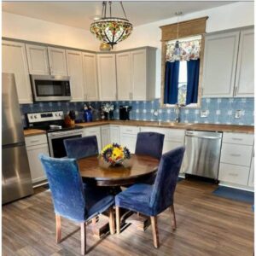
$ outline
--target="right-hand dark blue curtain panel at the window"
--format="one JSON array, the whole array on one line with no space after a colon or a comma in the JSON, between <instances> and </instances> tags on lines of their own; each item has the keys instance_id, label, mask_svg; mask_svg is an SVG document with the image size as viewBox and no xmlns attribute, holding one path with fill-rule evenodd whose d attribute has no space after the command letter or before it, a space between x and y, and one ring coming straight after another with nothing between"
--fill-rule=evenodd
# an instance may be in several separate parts
<instances>
[{"instance_id":1,"label":"right-hand dark blue curtain panel at the window","mask_svg":"<svg viewBox=\"0 0 256 256\"><path fill-rule=\"evenodd\" d=\"M187 97L186 105L197 103L200 59L187 61Z\"/></svg>"}]
</instances>

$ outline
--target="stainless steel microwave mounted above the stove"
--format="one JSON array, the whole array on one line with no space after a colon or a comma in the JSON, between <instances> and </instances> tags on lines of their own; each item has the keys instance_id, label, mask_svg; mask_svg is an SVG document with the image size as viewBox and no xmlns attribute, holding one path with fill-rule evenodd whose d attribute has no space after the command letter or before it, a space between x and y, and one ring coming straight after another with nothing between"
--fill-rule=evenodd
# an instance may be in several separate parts
<instances>
[{"instance_id":1,"label":"stainless steel microwave mounted above the stove","mask_svg":"<svg viewBox=\"0 0 256 256\"><path fill-rule=\"evenodd\" d=\"M35 102L70 101L70 81L67 76L31 75Z\"/></svg>"}]
</instances>

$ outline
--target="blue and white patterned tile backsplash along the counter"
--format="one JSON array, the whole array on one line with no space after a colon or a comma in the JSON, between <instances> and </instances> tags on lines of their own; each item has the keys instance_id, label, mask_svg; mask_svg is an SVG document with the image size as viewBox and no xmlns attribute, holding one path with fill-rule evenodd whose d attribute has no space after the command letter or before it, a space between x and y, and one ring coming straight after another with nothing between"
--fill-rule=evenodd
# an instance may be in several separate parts
<instances>
[{"instance_id":1,"label":"blue and white patterned tile backsplash along the counter","mask_svg":"<svg viewBox=\"0 0 256 256\"><path fill-rule=\"evenodd\" d=\"M100 119L99 108L102 102L87 102L94 110L94 119ZM132 107L130 119L161 120L172 122L175 119L174 108L160 108L160 100L149 102L112 102L115 105L114 119L119 119L119 106ZM83 119L84 102L40 102L20 105L23 125L26 126L25 113L69 110L76 111L78 119ZM235 118L236 110L241 110L241 118ZM157 111L158 115L154 115ZM207 111L207 117L201 117L201 111ZM182 108L182 123L205 123L225 125L254 125L254 98L203 98L201 108Z\"/></svg>"}]
</instances>

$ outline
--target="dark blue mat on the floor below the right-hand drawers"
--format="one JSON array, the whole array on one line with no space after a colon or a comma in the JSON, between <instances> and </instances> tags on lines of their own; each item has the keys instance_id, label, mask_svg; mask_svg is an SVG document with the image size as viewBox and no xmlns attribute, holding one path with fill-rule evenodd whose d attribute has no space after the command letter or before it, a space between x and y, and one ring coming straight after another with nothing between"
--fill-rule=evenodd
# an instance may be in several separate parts
<instances>
[{"instance_id":1,"label":"dark blue mat on the floor below the right-hand drawers","mask_svg":"<svg viewBox=\"0 0 256 256\"><path fill-rule=\"evenodd\" d=\"M254 193L250 191L220 186L212 194L231 200L247 202L251 205L254 204Z\"/></svg>"}]
</instances>

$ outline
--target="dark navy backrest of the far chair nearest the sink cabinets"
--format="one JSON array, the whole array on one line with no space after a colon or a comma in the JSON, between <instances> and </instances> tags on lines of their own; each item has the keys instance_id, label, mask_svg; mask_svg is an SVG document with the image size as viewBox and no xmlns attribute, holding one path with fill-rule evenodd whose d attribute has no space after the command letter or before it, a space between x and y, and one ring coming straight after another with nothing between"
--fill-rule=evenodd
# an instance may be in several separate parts
<instances>
[{"instance_id":1,"label":"dark navy backrest of the far chair nearest the sink cabinets","mask_svg":"<svg viewBox=\"0 0 256 256\"><path fill-rule=\"evenodd\" d=\"M146 154L160 160L165 135L158 132L139 132L135 154Z\"/></svg>"}]
</instances>

